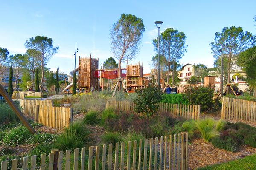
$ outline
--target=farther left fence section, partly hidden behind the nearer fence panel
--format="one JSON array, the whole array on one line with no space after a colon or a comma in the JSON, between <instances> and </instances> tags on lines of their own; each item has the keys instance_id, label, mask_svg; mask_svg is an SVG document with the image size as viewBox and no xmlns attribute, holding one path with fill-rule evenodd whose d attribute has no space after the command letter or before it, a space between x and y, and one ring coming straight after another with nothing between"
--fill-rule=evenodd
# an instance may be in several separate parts
<instances>
[{"instance_id":1,"label":"farther left fence section, partly hidden behind the nearer fence panel","mask_svg":"<svg viewBox=\"0 0 256 170\"><path fill-rule=\"evenodd\" d=\"M37 105L40 106L52 106L52 100L29 100L29 99L22 99L20 101L20 106L23 108L22 113L24 115L35 115L35 108Z\"/></svg>"}]
</instances>

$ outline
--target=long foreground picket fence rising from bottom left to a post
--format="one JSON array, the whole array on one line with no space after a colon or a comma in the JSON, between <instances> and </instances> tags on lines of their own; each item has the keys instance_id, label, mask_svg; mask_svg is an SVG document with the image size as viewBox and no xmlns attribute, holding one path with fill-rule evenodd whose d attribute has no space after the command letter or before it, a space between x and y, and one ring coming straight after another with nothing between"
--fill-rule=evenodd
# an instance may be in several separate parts
<instances>
[{"instance_id":1,"label":"long foreground picket fence rising from bottom left to a post","mask_svg":"<svg viewBox=\"0 0 256 170\"><path fill-rule=\"evenodd\" d=\"M144 144L143 144L144 143ZM115 146L115 147L114 147ZM52 150L49 157L41 154L41 162L36 162L36 156L31 157L31 170L187 170L188 133L161 136L158 138L140 139L128 143L104 144L102 146L63 151ZM107 152L108 148L108 152ZM100 153L102 152L102 153ZM81 153L81 156L79 156ZM71 157L74 157L71 161ZM10 161L10 160L9 160ZM28 157L23 158L23 163L17 159L1 162L1 170L28 170ZM48 163L47 163L48 162ZM71 163L71 166L70 166ZM9 162L10 165L10 162ZM86 168L87 167L87 168Z\"/></svg>"}]
</instances>

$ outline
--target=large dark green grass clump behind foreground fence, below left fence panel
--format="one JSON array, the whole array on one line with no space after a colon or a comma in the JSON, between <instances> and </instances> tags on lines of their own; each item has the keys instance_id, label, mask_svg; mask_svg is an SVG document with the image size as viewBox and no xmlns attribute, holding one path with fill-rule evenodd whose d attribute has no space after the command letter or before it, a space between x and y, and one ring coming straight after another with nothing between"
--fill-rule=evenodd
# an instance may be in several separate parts
<instances>
[{"instance_id":1,"label":"large dark green grass clump behind foreground fence, below left fence panel","mask_svg":"<svg viewBox=\"0 0 256 170\"><path fill-rule=\"evenodd\" d=\"M60 150L81 149L89 146L91 140L90 130L81 122L73 122L57 137L54 146Z\"/></svg>"}]
</instances>

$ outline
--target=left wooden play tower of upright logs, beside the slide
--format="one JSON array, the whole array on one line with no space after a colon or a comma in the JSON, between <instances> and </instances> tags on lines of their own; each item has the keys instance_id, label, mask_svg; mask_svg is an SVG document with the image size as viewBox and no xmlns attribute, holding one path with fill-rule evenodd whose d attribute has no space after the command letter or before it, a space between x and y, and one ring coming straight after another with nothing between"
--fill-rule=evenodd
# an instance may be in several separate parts
<instances>
[{"instance_id":1,"label":"left wooden play tower of upright logs, beside the slide","mask_svg":"<svg viewBox=\"0 0 256 170\"><path fill-rule=\"evenodd\" d=\"M87 91L91 90L91 87L96 87L98 84L98 78L93 77L94 70L99 67L99 58L92 58L91 55L88 58L79 57L78 67L78 88L86 88Z\"/></svg>"}]
</instances>

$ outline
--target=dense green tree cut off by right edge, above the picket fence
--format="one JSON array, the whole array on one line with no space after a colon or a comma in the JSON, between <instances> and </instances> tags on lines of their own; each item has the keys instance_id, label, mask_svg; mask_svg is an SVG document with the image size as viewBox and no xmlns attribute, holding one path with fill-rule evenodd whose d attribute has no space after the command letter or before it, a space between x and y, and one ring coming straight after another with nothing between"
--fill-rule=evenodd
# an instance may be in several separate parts
<instances>
[{"instance_id":1,"label":"dense green tree cut off by right edge, above the picket fence","mask_svg":"<svg viewBox=\"0 0 256 170\"><path fill-rule=\"evenodd\" d=\"M247 83L253 87L253 96L256 97L256 46L241 52L238 65L245 71Z\"/></svg>"}]
</instances>

